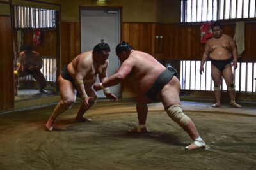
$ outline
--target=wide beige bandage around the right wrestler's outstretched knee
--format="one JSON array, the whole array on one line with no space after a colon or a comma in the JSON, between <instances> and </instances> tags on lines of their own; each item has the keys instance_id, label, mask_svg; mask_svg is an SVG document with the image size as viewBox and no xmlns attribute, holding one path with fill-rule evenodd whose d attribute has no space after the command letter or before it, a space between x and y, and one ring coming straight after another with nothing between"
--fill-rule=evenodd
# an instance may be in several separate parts
<instances>
[{"instance_id":1,"label":"wide beige bandage around the right wrestler's outstretched knee","mask_svg":"<svg viewBox=\"0 0 256 170\"><path fill-rule=\"evenodd\" d=\"M182 112L179 104L170 106L170 108L167 110L167 113L169 117L172 118L174 122L177 122L177 124L179 124L181 127L191 121L191 119Z\"/></svg>"}]
</instances>

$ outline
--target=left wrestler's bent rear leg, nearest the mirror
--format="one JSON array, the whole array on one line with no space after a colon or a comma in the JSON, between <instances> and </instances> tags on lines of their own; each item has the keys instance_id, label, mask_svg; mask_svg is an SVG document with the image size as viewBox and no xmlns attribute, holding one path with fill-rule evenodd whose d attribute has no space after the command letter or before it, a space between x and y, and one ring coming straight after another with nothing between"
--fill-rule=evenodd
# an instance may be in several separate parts
<instances>
[{"instance_id":1,"label":"left wrestler's bent rear leg, nearest the mirror","mask_svg":"<svg viewBox=\"0 0 256 170\"><path fill-rule=\"evenodd\" d=\"M60 75L58 78L58 86L60 88L61 101L57 104L45 125L46 129L49 131L52 131L56 118L67 111L76 101L76 89L74 89L70 81L65 80Z\"/></svg>"}]
</instances>

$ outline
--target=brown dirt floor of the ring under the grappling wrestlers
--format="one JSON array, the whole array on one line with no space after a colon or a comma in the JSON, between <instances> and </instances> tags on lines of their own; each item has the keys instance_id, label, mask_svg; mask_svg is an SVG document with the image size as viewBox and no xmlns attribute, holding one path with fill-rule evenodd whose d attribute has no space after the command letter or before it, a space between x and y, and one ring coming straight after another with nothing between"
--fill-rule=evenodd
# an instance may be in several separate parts
<instances>
[{"instance_id":1,"label":"brown dirt floor of the ring under the grappling wrestlers","mask_svg":"<svg viewBox=\"0 0 256 170\"><path fill-rule=\"evenodd\" d=\"M127 132L138 124L132 102L99 102L84 123L74 122L78 108L61 115L52 132L44 125L54 106L0 115L0 169L256 169L256 115L243 109L195 111L196 104L185 104L207 143L188 151L191 139L161 103L150 104L145 134Z\"/></svg>"}]
</instances>

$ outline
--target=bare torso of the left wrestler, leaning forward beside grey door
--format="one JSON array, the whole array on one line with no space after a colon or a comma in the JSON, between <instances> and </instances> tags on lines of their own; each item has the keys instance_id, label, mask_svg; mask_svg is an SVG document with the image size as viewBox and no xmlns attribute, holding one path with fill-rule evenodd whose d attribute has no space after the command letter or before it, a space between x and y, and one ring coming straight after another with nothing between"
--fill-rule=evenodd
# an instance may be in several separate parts
<instances>
[{"instance_id":1,"label":"bare torso of the left wrestler, leaning forward beside grey door","mask_svg":"<svg viewBox=\"0 0 256 170\"><path fill-rule=\"evenodd\" d=\"M74 80L84 81L85 87L92 86L97 80L97 74L105 73L108 60L104 64L93 61L92 51L81 53L68 64L68 73Z\"/></svg>"}]
</instances>

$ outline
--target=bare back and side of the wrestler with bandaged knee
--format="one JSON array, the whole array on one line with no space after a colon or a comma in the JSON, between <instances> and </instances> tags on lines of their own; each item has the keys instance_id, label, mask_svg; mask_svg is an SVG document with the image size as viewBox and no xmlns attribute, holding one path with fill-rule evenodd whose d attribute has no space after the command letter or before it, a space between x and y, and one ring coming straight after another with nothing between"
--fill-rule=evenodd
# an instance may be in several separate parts
<instances>
[{"instance_id":1,"label":"bare back and side of the wrestler with bandaged knee","mask_svg":"<svg viewBox=\"0 0 256 170\"><path fill-rule=\"evenodd\" d=\"M152 55L140 51L132 52L123 64L125 62L131 62L133 65L128 78L132 80L136 92L139 94L145 94L166 69Z\"/></svg>"}]
</instances>

